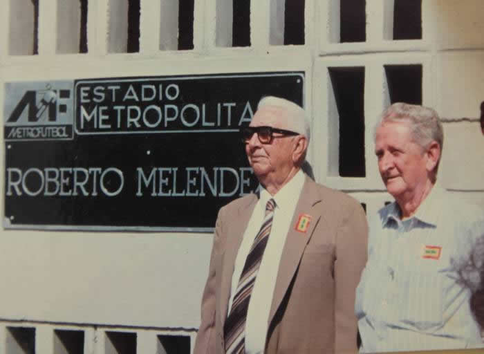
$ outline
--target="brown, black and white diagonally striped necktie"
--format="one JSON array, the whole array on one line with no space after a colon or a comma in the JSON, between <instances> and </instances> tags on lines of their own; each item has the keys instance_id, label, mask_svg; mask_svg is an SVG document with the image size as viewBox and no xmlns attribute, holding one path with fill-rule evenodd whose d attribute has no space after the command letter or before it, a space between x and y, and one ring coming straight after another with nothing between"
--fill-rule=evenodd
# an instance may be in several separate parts
<instances>
[{"instance_id":1,"label":"brown, black and white diagonally striped necktie","mask_svg":"<svg viewBox=\"0 0 484 354\"><path fill-rule=\"evenodd\" d=\"M276 202L270 199L266 205L266 217L261 229L255 236L252 248L245 259L245 264L241 273L241 279L237 285L232 308L225 320L223 328L225 337L225 353L245 353L245 317L249 308L250 294L254 288L255 278L261 265L262 256L268 243L272 217Z\"/></svg>"}]
</instances>

